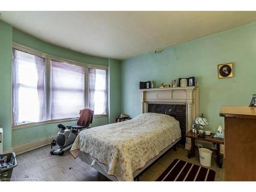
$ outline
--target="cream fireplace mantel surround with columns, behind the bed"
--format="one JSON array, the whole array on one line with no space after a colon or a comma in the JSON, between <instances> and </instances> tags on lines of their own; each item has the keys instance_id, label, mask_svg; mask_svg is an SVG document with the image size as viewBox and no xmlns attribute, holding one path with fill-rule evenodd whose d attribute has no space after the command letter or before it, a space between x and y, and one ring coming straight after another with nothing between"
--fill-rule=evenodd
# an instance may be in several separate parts
<instances>
[{"instance_id":1,"label":"cream fireplace mantel surround with columns, behind the bed","mask_svg":"<svg viewBox=\"0 0 256 192\"><path fill-rule=\"evenodd\" d=\"M186 132L191 130L193 119L199 116L199 88L196 86L177 88L140 89L141 113L148 112L148 103L185 104ZM186 139L185 148L190 150L190 139Z\"/></svg>"}]
</instances>

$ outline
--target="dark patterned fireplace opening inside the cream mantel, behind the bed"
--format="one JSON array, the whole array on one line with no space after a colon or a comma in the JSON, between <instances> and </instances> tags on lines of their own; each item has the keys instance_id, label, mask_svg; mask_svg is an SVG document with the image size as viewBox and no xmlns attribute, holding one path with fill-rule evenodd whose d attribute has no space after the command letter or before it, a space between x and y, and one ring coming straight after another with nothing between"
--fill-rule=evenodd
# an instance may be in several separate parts
<instances>
[{"instance_id":1,"label":"dark patterned fireplace opening inside the cream mantel, behind the bed","mask_svg":"<svg viewBox=\"0 0 256 192\"><path fill-rule=\"evenodd\" d=\"M160 113L174 117L180 123L180 144L186 143L186 105L185 104L153 104L148 103L148 113Z\"/></svg>"}]
</instances>

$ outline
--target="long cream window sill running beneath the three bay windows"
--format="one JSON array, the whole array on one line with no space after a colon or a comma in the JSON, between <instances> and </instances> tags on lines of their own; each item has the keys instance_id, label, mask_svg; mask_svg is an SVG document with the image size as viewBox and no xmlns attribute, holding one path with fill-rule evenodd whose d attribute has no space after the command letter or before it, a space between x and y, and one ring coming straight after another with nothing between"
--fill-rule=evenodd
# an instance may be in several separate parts
<instances>
[{"instance_id":1,"label":"long cream window sill running beneath the three bay windows","mask_svg":"<svg viewBox=\"0 0 256 192\"><path fill-rule=\"evenodd\" d=\"M108 117L109 115L94 115L93 118L99 118L99 117ZM57 122L65 122L65 121L77 121L77 118L67 118L67 119L56 119L56 120L47 120L47 121L41 121L41 122L35 122L35 123L25 123L25 124L18 124L18 125L12 125L12 130L19 130L24 129L32 126L38 126L43 124L50 124L50 123L57 123Z\"/></svg>"}]
</instances>

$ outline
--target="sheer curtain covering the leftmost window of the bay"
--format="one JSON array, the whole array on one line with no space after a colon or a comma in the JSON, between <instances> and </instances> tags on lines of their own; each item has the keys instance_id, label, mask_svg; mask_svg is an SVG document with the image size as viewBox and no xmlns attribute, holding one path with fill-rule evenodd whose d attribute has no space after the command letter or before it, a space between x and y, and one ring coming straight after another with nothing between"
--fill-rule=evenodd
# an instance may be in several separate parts
<instances>
[{"instance_id":1,"label":"sheer curtain covering the leftmost window of the bay","mask_svg":"<svg viewBox=\"0 0 256 192\"><path fill-rule=\"evenodd\" d=\"M13 124L46 120L45 58L13 49Z\"/></svg>"}]
</instances>

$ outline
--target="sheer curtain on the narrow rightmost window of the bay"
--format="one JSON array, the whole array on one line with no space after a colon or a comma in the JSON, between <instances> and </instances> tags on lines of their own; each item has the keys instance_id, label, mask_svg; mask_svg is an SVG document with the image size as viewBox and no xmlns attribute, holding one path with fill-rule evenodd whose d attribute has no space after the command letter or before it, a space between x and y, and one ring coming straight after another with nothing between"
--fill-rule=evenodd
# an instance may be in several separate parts
<instances>
[{"instance_id":1,"label":"sheer curtain on the narrow rightmost window of the bay","mask_svg":"<svg viewBox=\"0 0 256 192\"><path fill-rule=\"evenodd\" d=\"M89 69L89 108L95 115L108 114L107 72Z\"/></svg>"}]
</instances>

